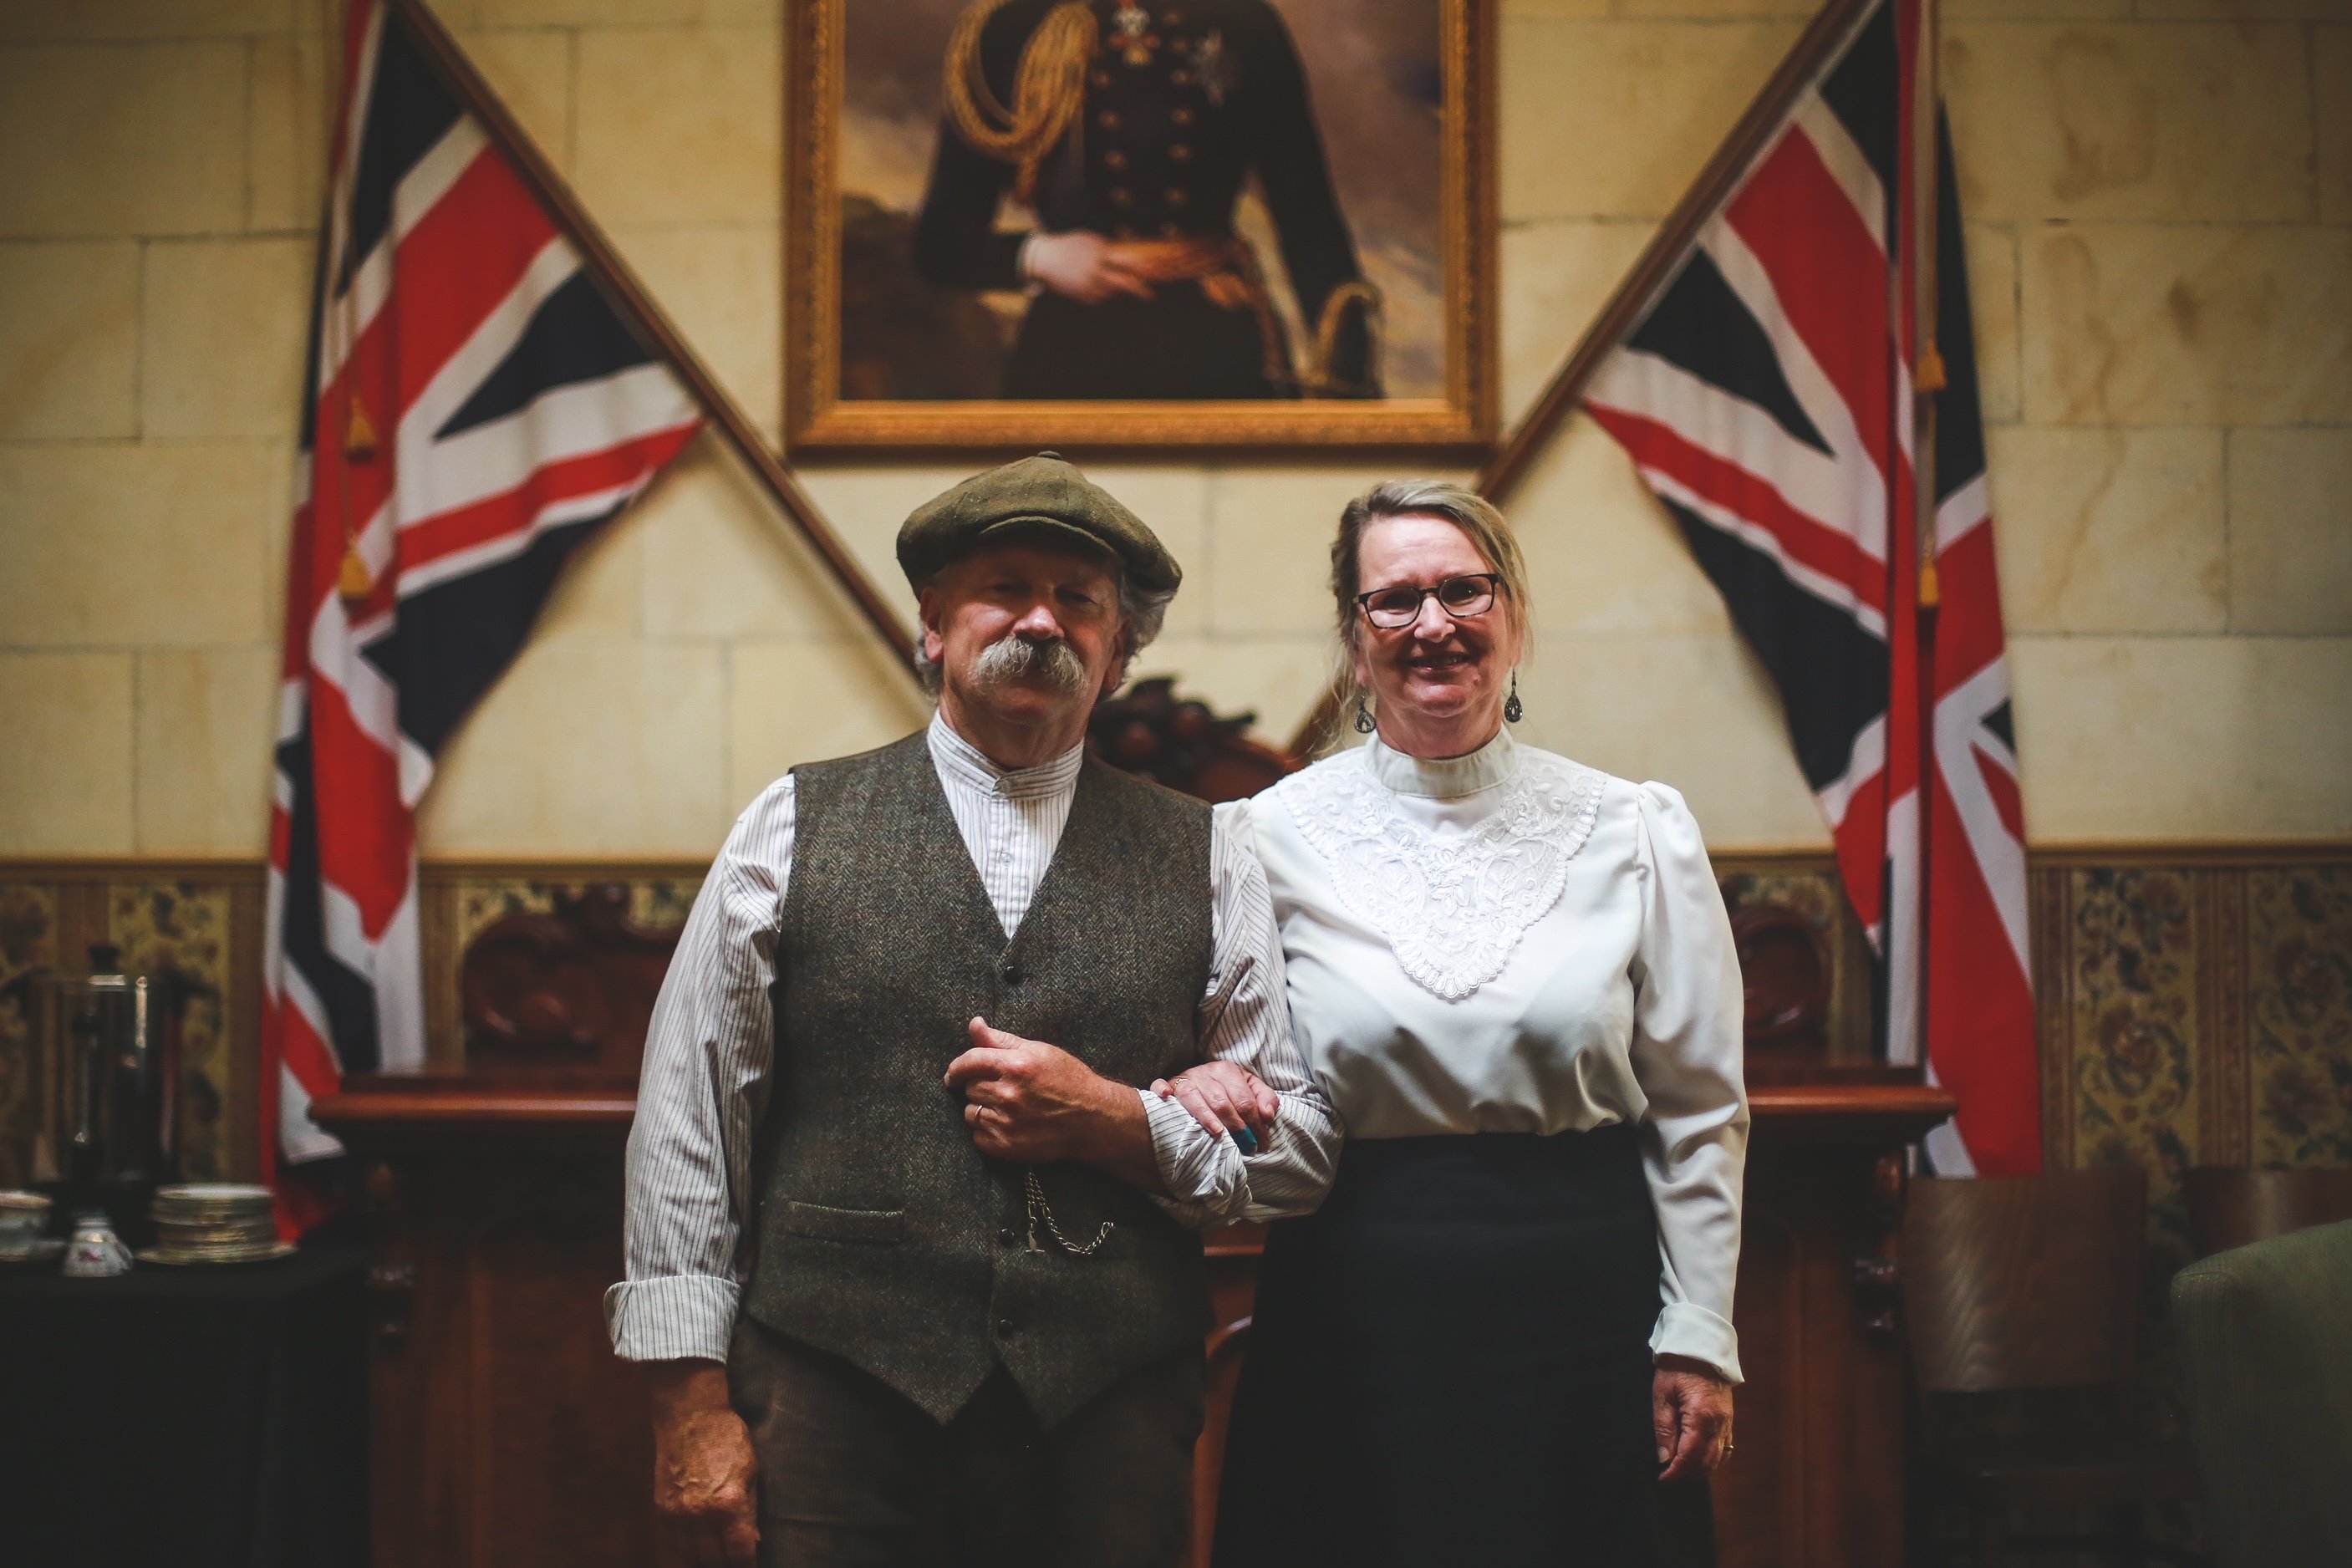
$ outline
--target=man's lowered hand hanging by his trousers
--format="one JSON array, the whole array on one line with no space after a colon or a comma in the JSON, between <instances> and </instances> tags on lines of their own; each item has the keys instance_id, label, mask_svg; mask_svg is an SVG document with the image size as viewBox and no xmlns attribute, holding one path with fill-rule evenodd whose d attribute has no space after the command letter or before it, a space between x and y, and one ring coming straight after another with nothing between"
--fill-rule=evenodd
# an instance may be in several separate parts
<instances>
[{"instance_id":1,"label":"man's lowered hand hanging by his trousers","mask_svg":"<svg viewBox=\"0 0 2352 1568\"><path fill-rule=\"evenodd\" d=\"M717 1361L649 1361L654 1512L694 1568L750 1568L760 1556L760 1462L750 1427L727 1403Z\"/></svg>"}]
</instances>

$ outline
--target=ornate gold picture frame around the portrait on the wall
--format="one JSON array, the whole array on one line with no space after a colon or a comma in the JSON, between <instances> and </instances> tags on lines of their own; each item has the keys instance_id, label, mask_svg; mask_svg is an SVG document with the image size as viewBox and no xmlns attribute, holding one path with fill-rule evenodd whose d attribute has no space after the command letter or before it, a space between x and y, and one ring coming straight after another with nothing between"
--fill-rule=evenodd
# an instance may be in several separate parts
<instances>
[{"instance_id":1,"label":"ornate gold picture frame around the portrait on the wall","mask_svg":"<svg viewBox=\"0 0 2352 1568\"><path fill-rule=\"evenodd\" d=\"M957 5L988 5L988 0L955 0ZM1035 0L1030 0L1035 2ZM936 24L938 9L948 0L929 0L924 16ZM1014 0L1023 5L1023 0ZM1185 0L1150 0L1150 7L1134 5L1134 0L1122 0L1117 9L1105 9L1096 5L1098 21L1110 26L1131 24L1131 12L1143 12L1148 19L1164 14L1169 21L1183 19ZM1279 12L1284 0L1272 0ZM844 167L844 134L863 134L861 127L873 122L870 115L844 113L844 101L851 99L851 61L856 49L851 47L849 31L854 26L880 26L882 12L898 7L866 7L851 5L851 0L790 0L788 5L788 71L790 92L786 94L786 447L795 458L800 456L875 456L875 454L913 454L913 451L978 451L978 449L1040 449L1056 447L1068 451L1112 451L1112 449L1155 449L1155 451L1232 451L1232 449L1418 449L1428 454L1451 454L1472 456L1484 451L1494 442L1496 433L1496 284L1494 284L1494 254L1496 254L1496 197L1494 197L1494 0L1289 0L1294 9L1308 9L1329 16L1334 9L1345 9L1348 5L1367 7L1367 14L1378 9L1388 19L1388 26L1397 26L1397 16L1409 16L1411 5L1425 5L1435 21L1435 59L1425 61L1428 75L1423 80L1435 85L1435 103L1428 106L1425 118L1435 120L1435 183L1439 186L1437 214L1432 219L1435 228L1428 233L1406 233L1416 221L1418 207L1406 207L1406 216L1397 219L1397 202L1388 193L1378 193L1388 200L1390 233L1404 233L1406 242L1414 247L1409 256L1418 261L1411 270L1418 294L1414 294L1414 383L1411 395L1390 397L1322 397L1322 395L1294 395L1294 393L1270 393L1263 397L1235 397L1235 400L1115 400L1115 397L976 397L976 395L844 395L844 230L854 235L870 235L875 221L884 221L891 228L884 230L882 244L903 244L913 252L910 235L915 233L915 214L901 209L877 207L863 195L849 195L842 190L842 167ZM1216 16L1232 9L1232 0L1214 0L1207 5L1207 16ZM908 12L913 14L913 12ZM1240 12L1235 12L1240 14ZM903 21L906 14L901 14ZM901 24L894 24L901 26ZM1157 21L1145 21L1141 26L1157 28ZM1207 47L1202 38L1202 16L1195 16L1190 42L1178 38L1178 28L1169 26L1171 49L1190 47L1195 54ZM1367 24L1369 26L1369 24ZM1209 35L1211 40L1218 35ZM1138 52L1127 59L1141 59L1141 42L1145 35L1134 40ZM1155 47L1160 45L1157 33L1148 38ZM1310 54L1315 40L1310 38L1298 52ZM868 45L858 45L861 49ZM898 35L887 40L887 47L896 49L896 68L901 78L908 66L906 59L920 42L908 42ZM946 61L946 47L938 56ZM1091 73L1096 85L1112 78L1120 66L1117 38L1110 47L1098 49L1094 56L1103 68ZM1174 54L1169 59L1176 59ZM1202 56L1207 59L1207 56ZM1195 63L1188 56L1188 63ZM1312 61L1308 61L1312 63ZM1183 82L1185 73L1174 71L1176 80ZM1352 80L1345 73L1334 73L1341 82ZM1331 92L1343 92L1329 87L1324 80L1310 78L1310 92L1315 96L1315 108L1310 113L1310 125L1327 113L1324 99ZM936 80L931 92L938 94ZM1364 92L1371 92L1369 87ZM901 89L898 101L906 101ZM1096 99L1089 99L1096 101ZM1216 99L1223 103L1223 99ZM936 113L936 96L929 101ZM898 148L898 186L906 186L906 169L910 167L906 143L908 125L913 113L924 106L906 110L906 115L894 125L894 141ZM1364 120L1374 106L1348 106L1355 108L1359 122L1385 125L1378 120ZM1084 115L1084 108L1077 110ZM1345 113L1345 110L1343 110ZM1084 125L1084 120L1080 120ZM941 132L946 136L950 132ZM1418 134L1418 132L1416 132ZM1319 141L1317 132L1317 141ZM1322 148L1317 146L1317 155ZM1084 160L1082 153L1068 150L1070 167ZM861 162L873 167L873 158ZM1362 162L1362 160L1359 160ZM1336 160L1334 160L1336 165ZM1428 179L1425 167L1416 165L1416 172ZM938 179L931 174L929 179ZM1331 176L1331 188L1338 186L1338 174ZM1357 181L1362 188L1362 181ZM924 190L929 197L929 188ZM844 216L847 200L858 202L858 223L849 223ZM903 197L901 197L903 200ZM1334 207L1338 207L1334 200ZM1265 209L1261 209L1265 212ZM1341 207L1343 212L1343 207ZM880 219L877 219L880 214ZM1345 216L1341 223L1345 226ZM1402 226L1399 226L1402 223ZM1174 233L1174 223L1162 233ZM1343 230L1345 233L1345 230ZM863 252L861 256L868 256ZM1383 252L1385 254L1385 252ZM1435 256L1435 268L1430 259ZM1364 275L1371 277L1378 256L1364 252ZM870 294L870 270L868 266L856 268L861 292ZM1244 270L1254 273L1254 284L1258 289L1258 320L1268 339L1279 339L1282 353L1296 346L1301 339L1315 339L1312 329L1303 329L1296 317L1287 320L1287 331L1272 327L1272 315L1265 301L1275 294L1265 282L1256 282L1256 268L1244 261ZM1425 282L1430 270L1437 273L1439 282ZM1404 277L1404 270L1392 275ZM931 284L922 284L931 289ZM946 299L946 289L934 289L934 296ZM1035 289L1033 289L1035 294ZM896 296L903 299L903 296ZM995 315L988 320L1009 322L1002 324L1007 341L1018 331L1023 306L1018 294L971 294L971 299L993 301ZM1284 299L1287 308L1296 310L1294 299ZM974 306L955 301L955 308L969 320ZM858 303L861 322L873 320L896 320L873 315L873 306ZM1432 327L1430 322L1437 322ZM1327 306L1329 322L1329 306ZM1442 348L1437 348L1437 334L1442 334ZM969 336L969 334L967 334ZM877 378L870 371L875 357L866 353L866 341L870 331L861 339L858 367L861 381L875 386ZM1329 353L1329 327L1319 339L1322 348ZM1004 350L1007 355L1011 350ZM1268 348L1268 364L1277 350ZM903 355L906 364L913 357ZM1289 364L1289 360L1282 360ZM1378 360L1371 360L1378 367ZM884 362L887 367L887 362ZM910 371L913 374L913 371ZM1002 371L1000 371L1002 374ZM1374 383L1367 374L1367 386ZM887 381L884 381L887 386ZM1294 386L1312 386L1312 381L1301 381ZM1402 386L1402 381L1399 381Z\"/></svg>"}]
</instances>

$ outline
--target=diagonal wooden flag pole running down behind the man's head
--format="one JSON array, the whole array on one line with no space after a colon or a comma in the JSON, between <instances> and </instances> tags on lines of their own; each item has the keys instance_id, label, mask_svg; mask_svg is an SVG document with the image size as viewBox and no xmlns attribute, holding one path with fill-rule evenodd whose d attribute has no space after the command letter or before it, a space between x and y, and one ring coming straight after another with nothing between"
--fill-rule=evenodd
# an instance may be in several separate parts
<instances>
[{"instance_id":1,"label":"diagonal wooden flag pole running down behind the man's head","mask_svg":"<svg viewBox=\"0 0 2352 1568\"><path fill-rule=\"evenodd\" d=\"M809 491L793 480L786 470L783 458L760 428L743 411L743 404L720 386L720 378L710 374L703 357L694 353L687 336L677 331L668 313L654 301L652 292L637 280L637 273L621 259L612 240L597 226L581 200L572 193L572 186L555 165L546 160L539 143L532 141L529 132L515 120L482 73L473 68L466 59L466 49L449 35L440 16L426 5L426 0L388 0L393 14L407 24L416 45L426 52L433 66L440 71L442 80L456 92L456 96L473 110L473 115L489 132L492 143L522 176L522 183L539 197L539 205L548 209L555 226L567 240L581 252L581 261L588 275L612 301L621 320L637 334L637 339L652 348L670 367L670 371L684 383L687 395L694 397L703 416L717 428L717 433L741 458L743 468L760 482L776 510L790 520L793 529L800 534L816 559L823 562L826 571L840 585L849 602L873 628L875 637L898 656L898 668L913 679L915 675L915 639L906 628L906 621L891 607L891 602L875 588L875 581L866 576L858 567L856 555L842 543L842 536L833 531L826 515L809 498Z\"/></svg>"}]
</instances>

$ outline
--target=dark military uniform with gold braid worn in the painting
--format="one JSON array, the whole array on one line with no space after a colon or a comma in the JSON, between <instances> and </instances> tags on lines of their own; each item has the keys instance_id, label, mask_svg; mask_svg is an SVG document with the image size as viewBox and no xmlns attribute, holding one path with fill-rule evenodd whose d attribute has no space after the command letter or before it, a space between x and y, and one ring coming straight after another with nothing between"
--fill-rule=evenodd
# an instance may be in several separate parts
<instances>
[{"instance_id":1,"label":"dark military uniform with gold braid worn in the painting","mask_svg":"<svg viewBox=\"0 0 2352 1568\"><path fill-rule=\"evenodd\" d=\"M924 277L1021 289L1030 233L1091 230L1152 299L1035 289L1007 397L1378 397L1378 296L1357 268L1322 132L1265 0L976 0L948 47L948 113L915 230ZM1007 108L1009 106L1009 108ZM1308 341L1294 353L1235 233L1256 176Z\"/></svg>"}]
</instances>

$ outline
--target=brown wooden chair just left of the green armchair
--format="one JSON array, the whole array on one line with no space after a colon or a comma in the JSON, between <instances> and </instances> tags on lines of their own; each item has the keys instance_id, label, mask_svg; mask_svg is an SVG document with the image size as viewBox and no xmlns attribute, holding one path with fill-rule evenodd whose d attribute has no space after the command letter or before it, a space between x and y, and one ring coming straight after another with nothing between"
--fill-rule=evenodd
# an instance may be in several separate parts
<instances>
[{"instance_id":1,"label":"brown wooden chair just left of the green armchair","mask_svg":"<svg viewBox=\"0 0 2352 1568\"><path fill-rule=\"evenodd\" d=\"M1919 1497L1969 1509L1976 1561L2009 1547L2204 1561L2140 1540L2140 1509L2194 1495L2187 1446L2152 1432L2138 1321L2138 1166L1922 1180L1903 1227L1919 1385ZM2098 1509L2103 1537L2009 1535L2027 1507Z\"/></svg>"}]
</instances>

